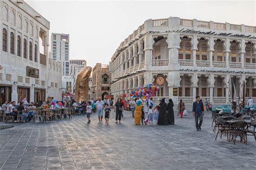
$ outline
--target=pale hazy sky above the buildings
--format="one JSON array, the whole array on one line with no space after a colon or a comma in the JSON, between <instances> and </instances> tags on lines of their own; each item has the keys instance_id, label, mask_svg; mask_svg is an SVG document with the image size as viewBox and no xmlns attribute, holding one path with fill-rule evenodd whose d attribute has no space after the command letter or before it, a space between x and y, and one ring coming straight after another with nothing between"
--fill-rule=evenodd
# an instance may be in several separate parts
<instances>
[{"instance_id":1,"label":"pale hazy sky above the buildings","mask_svg":"<svg viewBox=\"0 0 256 170\"><path fill-rule=\"evenodd\" d=\"M109 64L119 44L150 18L256 25L256 0L25 2L50 21L50 35L69 34L70 59L85 59L92 67Z\"/></svg>"}]
</instances>

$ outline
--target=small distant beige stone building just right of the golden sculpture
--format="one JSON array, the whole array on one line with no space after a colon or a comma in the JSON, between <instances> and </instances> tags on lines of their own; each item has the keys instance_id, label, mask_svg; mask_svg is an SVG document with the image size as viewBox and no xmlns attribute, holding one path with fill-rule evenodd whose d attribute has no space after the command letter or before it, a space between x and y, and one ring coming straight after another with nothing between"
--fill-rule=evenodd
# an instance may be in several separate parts
<instances>
[{"instance_id":1,"label":"small distant beige stone building just right of the golden sculpture","mask_svg":"<svg viewBox=\"0 0 256 170\"><path fill-rule=\"evenodd\" d=\"M93 99L104 98L110 94L110 71L109 65L97 63L92 69L92 95Z\"/></svg>"}]
</instances>

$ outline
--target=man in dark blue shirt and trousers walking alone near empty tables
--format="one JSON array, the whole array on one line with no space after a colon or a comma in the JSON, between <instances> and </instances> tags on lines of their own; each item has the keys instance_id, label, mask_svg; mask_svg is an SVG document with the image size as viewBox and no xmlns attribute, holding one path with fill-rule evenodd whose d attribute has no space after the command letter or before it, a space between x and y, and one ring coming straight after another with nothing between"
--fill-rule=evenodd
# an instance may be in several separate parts
<instances>
[{"instance_id":1,"label":"man in dark blue shirt and trousers walking alone near empty tables","mask_svg":"<svg viewBox=\"0 0 256 170\"><path fill-rule=\"evenodd\" d=\"M197 131L201 131L201 125L203 123L203 115L204 113L204 105L203 102L200 101L200 96L196 97L196 101L193 103L193 117L196 120L196 127ZM198 118L199 118L199 125L198 125Z\"/></svg>"}]
</instances>

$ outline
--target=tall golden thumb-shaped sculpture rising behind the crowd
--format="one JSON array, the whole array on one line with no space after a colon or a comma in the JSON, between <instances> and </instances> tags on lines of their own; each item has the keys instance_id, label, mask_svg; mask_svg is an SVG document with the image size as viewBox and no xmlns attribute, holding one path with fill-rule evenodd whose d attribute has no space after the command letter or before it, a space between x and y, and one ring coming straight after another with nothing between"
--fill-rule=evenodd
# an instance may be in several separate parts
<instances>
[{"instance_id":1,"label":"tall golden thumb-shaped sculpture rising behind the crowd","mask_svg":"<svg viewBox=\"0 0 256 170\"><path fill-rule=\"evenodd\" d=\"M75 87L75 100L88 101L89 100L89 77L91 75L92 67L85 66L77 74Z\"/></svg>"}]
</instances>

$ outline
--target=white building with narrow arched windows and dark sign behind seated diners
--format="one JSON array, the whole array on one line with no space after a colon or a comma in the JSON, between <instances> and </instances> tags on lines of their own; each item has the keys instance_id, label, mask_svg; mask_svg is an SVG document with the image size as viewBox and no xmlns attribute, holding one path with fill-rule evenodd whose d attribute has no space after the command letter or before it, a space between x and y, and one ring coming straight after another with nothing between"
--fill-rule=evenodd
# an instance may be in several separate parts
<instances>
[{"instance_id":1,"label":"white building with narrow arched windows and dark sign behind seated diners","mask_svg":"<svg viewBox=\"0 0 256 170\"><path fill-rule=\"evenodd\" d=\"M50 22L24 1L0 2L1 102L62 99L62 65L49 58Z\"/></svg>"}]
</instances>

